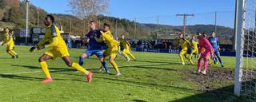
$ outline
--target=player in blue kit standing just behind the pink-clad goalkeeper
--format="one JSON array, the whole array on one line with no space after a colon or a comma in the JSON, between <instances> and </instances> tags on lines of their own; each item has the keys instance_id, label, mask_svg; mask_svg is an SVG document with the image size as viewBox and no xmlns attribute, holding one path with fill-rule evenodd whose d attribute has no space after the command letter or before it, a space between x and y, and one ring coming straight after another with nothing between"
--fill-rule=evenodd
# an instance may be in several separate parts
<instances>
[{"instance_id":1,"label":"player in blue kit standing just behind the pink-clad goalkeeper","mask_svg":"<svg viewBox=\"0 0 256 102\"><path fill-rule=\"evenodd\" d=\"M214 48L214 54L216 56L216 57L214 57L214 64L218 63L218 61L219 61L219 63L222 65L222 67L224 67L222 58L219 53L220 48L219 48L218 37L216 37L216 33L212 32L211 37L209 37L208 40L210 41L210 45L212 45Z\"/></svg>"}]
</instances>

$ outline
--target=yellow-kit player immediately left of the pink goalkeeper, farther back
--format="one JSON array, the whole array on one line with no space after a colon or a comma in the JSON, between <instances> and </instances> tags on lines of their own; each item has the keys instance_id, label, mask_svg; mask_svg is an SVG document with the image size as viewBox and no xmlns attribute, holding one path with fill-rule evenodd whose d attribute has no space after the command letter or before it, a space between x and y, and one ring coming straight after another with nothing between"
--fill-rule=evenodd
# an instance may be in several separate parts
<instances>
[{"instance_id":1,"label":"yellow-kit player immediately left of the pink goalkeeper, farther back","mask_svg":"<svg viewBox=\"0 0 256 102\"><path fill-rule=\"evenodd\" d=\"M190 60L192 60L192 56L195 53L195 57L197 59L198 57L198 41L195 39L196 37L193 35L192 39L190 41L191 43L191 47L192 47L192 51L190 53Z\"/></svg>"}]
</instances>

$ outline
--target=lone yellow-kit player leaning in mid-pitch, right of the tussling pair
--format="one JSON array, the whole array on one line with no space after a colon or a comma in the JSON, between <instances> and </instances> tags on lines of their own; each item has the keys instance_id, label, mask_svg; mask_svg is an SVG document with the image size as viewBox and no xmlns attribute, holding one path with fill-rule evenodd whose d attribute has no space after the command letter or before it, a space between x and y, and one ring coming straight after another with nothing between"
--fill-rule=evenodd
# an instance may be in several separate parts
<instances>
[{"instance_id":1,"label":"lone yellow-kit player leaning in mid-pitch, right of the tussling pair","mask_svg":"<svg viewBox=\"0 0 256 102\"><path fill-rule=\"evenodd\" d=\"M125 35L124 34L121 35L120 45L122 45L122 47L123 47L122 54L126 57L126 61L130 61L130 57L132 57L134 59L134 61L135 61L136 58L131 53L130 43L129 43L129 41L127 41L125 39ZM130 57L128 57L128 56L130 56Z\"/></svg>"}]
</instances>

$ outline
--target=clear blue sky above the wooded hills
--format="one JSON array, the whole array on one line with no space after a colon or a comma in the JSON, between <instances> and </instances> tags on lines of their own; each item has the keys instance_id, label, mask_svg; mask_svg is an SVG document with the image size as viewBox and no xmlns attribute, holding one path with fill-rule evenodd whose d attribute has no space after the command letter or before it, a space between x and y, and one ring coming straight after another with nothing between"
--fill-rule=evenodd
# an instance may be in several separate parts
<instances>
[{"instance_id":1,"label":"clear blue sky above the wooded hills","mask_svg":"<svg viewBox=\"0 0 256 102\"><path fill-rule=\"evenodd\" d=\"M30 0L48 13L70 14L68 0ZM175 14L195 14L188 18L188 25L214 24L214 12L218 25L234 27L235 0L110 0L105 15L116 18L137 19L137 22L182 25L182 17ZM159 16L158 16L159 15Z\"/></svg>"}]
</instances>

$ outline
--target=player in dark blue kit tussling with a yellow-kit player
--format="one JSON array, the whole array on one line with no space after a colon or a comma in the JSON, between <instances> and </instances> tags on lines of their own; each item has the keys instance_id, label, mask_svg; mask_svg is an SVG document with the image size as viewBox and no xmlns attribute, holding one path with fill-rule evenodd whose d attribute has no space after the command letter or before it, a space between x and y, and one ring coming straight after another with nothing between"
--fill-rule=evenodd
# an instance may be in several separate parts
<instances>
[{"instance_id":1,"label":"player in dark blue kit tussling with a yellow-kit player","mask_svg":"<svg viewBox=\"0 0 256 102\"><path fill-rule=\"evenodd\" d=\"M89 49L81 54L79 58L79 65L83 65L85 57L89 58L95 54L98 57L99 61L102 63L102 66L105 69L106 73L110 73L103 58L102 44L98 43L94 38L101 35L100 30L97 28L97 22L91 21L89 26L90 31L86 34L86 37L88 37L87 42L89 42Z\"/></svg>"}]
</instances>

